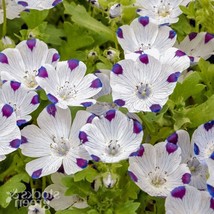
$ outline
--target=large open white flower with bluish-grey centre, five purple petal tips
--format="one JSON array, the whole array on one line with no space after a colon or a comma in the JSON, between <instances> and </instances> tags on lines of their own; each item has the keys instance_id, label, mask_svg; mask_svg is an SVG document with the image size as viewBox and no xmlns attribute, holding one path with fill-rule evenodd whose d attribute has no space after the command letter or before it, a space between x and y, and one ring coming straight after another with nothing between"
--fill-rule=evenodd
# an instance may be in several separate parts
<instances>
[{"instance_id":1,"label":"large open white flower with bluish-grey centre, five purple petal tips","mask_svg":"<svg viewBox=\"0 0 214 214\"><path fill-rule=\"evenodd\" d=\"M175 52L171 62L165 64L147 54L136 61L119 61L113 66L110 78L114 103L130 112L160 111L173 92L184 64L186 58L180 52Z\"/></svg>"}]
</instances>

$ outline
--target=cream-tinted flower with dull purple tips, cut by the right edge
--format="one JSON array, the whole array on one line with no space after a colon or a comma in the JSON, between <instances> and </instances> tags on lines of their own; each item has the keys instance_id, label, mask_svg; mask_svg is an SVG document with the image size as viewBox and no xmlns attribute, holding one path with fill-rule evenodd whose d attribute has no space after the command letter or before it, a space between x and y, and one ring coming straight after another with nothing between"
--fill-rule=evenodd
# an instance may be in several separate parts
<instances>
[{"instance_id":1,"label":"cream-tinted flower with dull purple tips, cut by the right edge","mask_svg":"<svg viewBox=\"0 0 214 214\"><path fill-rule=\"evenodd\" d=\"M214 34L200 32L190 33L176 47L184 51L192 63L197 63L200 58L208 59L214 53Z\"/></svg>"}]
</instances>

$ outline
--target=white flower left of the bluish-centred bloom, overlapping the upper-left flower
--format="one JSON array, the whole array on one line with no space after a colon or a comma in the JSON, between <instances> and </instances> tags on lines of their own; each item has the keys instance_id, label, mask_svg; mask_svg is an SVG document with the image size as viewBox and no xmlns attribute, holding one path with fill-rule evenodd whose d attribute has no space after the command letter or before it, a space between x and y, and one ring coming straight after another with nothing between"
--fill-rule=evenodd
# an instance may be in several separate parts
<instances>
[{"instance_id":1,"label":"white flower left of the bluish-centred bloom, overlapping the upper-left flower","mask_svg":"<svg viewBox=\"0 0 214 214\"><path fill-rule=\"evenodd\" d=\"M51 65L42 66L36 77L45 90L48 99L59 106L88 107L96 103L89 99L102 89L102 83L94 74L86 73L86 65L76 59L58 62L56 69Z\"/></svg>"}]
</instances>

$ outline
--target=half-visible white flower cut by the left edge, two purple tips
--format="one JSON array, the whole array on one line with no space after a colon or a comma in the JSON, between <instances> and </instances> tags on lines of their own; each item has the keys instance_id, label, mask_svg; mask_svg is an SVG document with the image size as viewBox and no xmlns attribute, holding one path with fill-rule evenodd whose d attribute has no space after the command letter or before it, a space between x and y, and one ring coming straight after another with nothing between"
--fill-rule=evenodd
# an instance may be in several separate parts
<instances>
[{"instance_id":1,"label":"half-visible white flower cut by the left edge, two purple tips","mask_svg":"<svg viewBox=\"0 0 214 214\"><path fill-rule=\"evenodd\" d=\"M0 160L18 149L20 144L21 133L13 108L8 104L0 104Z\"/></svg>"}]
</instances>

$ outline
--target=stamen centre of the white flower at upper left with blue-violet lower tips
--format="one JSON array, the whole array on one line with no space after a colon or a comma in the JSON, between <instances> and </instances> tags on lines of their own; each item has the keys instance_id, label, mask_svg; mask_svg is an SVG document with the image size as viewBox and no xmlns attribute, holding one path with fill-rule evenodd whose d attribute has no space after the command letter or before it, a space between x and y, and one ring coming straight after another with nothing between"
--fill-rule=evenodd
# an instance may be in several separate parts
<instances>
[{"instance_id":1,"label":"stamen centre of the white flower at upper left with blue-violet lower tips","mask_svg":"<svg viewBox=\"0 0 214 214\"><path fill-rule=\"evenodd\" d=\"M77 94L77 90L75 89L75 85L71 86L69 81L66 81L63 86L58 87L58 95L63 99L67 100L70 98L75 98Z\"/></svg>"}]
</instances>

